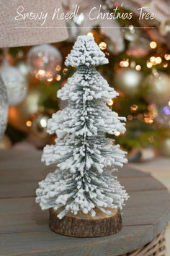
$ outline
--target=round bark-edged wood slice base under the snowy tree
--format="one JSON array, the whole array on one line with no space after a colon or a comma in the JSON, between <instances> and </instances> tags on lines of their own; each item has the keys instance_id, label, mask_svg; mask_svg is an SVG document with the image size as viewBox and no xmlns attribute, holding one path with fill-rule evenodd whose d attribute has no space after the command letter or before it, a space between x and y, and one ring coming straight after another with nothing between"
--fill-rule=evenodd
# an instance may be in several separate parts
<instances>
[{"instance_id":1,"label":"round bark-edged wood slice base under the snowy tree","mask_svg":"<svg viewBox=\"0 0 170 256\"><path fill-rule=\"evenodd\" d=\"M107 215L99 209L94 209L96 216L91 214L67 213L61 220L57 217L59 210L50 208L50 229L58 234L76 237L97 237L109 236L115 234L122 229L122 217L120 210L108 209L111 214Z\"/></svg>"}]
</instances>

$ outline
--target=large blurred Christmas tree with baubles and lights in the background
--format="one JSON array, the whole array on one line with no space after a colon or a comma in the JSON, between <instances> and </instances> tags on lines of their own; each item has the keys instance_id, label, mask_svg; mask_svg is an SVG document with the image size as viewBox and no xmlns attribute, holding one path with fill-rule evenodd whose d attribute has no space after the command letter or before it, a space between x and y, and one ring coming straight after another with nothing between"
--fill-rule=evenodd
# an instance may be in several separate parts
<instances>
[{"instance_id":1,"label":"large blurred Christmas tree with baubles and lights in the background","mask_svg":"<svg viewBox=\"0 0 170 256\"><path fill-rule=\"evenodd\" d=\"M106 0L102 3L102 9L106 12L118 7L120 13L130 13L132 10L135 13L142 5L150 7L149 3L147 6L145 4L145 1L139 4L138 1L129 0L122 4L122 1ZM110 20L107 24L107 27L121 27L119 29L104 30L102 25L106 25L101 22L99 27L91 23L95 29L86 30L86 34L94 35L99 48L109 59L109 64L99 67L99 72L120 93L116 100L110 98L109 106L128 119L127 132L125 135L117 132L117 142L128 150L152 145L170 155L169 7L164 3L161 10L157 10L155 3L152 8L157 11L157 19L153 23L149 20L144 26L139 22L138 13L133 13L131 20ZM68 9L71 10L71 7ZM152 10L151 7L149 10ZM161 11L164 11L164 19L159 13ZM4 58L24 75L29 73L26 59L31 67L26 98L9 110L7 135L13 142L27 136L38 148L49 140L53 142L54 138L49 138L46 133L47 119L66 105L55 96L74 72L74 67L63 66L62 59L68 55L77 35L85 33L81 28L83 26L87 26L85 17L72 20L68 24L68 27L74 27L69 30L69 40L56 43L55 48L10 48L5 54ZM3 54L1 51L1 56Z\"/></svg>"}]
</instances>

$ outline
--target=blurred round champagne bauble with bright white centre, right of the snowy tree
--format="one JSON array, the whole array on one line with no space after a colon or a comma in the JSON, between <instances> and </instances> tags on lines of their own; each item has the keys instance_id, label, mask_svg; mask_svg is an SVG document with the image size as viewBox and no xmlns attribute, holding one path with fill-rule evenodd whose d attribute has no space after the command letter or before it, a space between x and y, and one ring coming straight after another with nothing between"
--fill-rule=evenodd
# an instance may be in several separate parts
<instances>
[{"instance_id":1,"label":"blurred round champagne bauble with bright white centre, right of the snowy tree","mask_svg":"<svg viewBox=\"0 0 170 256\"><path fill-rule=\"evenodd\" d=\"M122 68L115 74L115 86L122 90L128 96L132 96L138 92L143 74L140 71L132 68Z\"/></svg>"}]
</instances>

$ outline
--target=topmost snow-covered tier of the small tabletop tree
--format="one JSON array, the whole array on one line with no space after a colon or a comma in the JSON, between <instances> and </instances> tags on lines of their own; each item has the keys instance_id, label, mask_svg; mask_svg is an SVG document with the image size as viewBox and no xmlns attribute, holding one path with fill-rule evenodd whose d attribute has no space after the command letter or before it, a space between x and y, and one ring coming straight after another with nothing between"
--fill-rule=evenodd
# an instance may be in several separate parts
<instances>
[{"instance_id":1,"label":"topmost snow-covered tier of the small tabletop tree","mask_svg":"<svg viewBox=\"0 0 170 256\"><path fill-rule=\"evenodd\" d=\"M101 64L107 64L109 61L105 57L94 41L94 37L91 35L79 35L76 43L66 58L66 66L73 65L79 67L81 65L99 66Z\"/></svg>"}]
</instances>

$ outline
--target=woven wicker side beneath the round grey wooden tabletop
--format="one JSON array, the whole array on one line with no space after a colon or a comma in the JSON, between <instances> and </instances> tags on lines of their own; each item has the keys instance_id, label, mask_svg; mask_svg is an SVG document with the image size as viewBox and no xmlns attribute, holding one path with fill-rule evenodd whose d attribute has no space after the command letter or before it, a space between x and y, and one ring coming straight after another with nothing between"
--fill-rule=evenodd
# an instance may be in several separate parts
<instances>
[{"instance_id":1,"label":"woven wicker side beneath the round grey wooden tabletop","mask_svg":"<svg viewBox=\"0 0 170 256\"><path fill-rule=\"evenodd\" d=\"M166 256L165 230L144 247L121 256Z\"/></svg>"}]
</instances>

